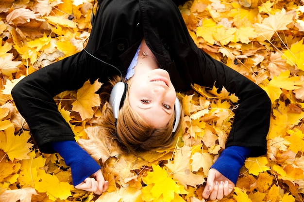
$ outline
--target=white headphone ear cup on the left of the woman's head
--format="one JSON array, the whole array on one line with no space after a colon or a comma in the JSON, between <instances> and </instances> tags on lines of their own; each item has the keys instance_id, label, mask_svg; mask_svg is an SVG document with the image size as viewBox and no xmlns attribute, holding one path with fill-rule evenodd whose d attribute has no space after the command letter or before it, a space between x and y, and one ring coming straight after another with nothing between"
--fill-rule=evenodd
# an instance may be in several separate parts
<instances>
[{"instance_id":1,"label":"white headphone ear cup on the left of the woman's head","mask_svg":"<svg viewBox=\"0 0 304 202\"><path fill-rule=\"evenodd\" d=\"M123 105L123 101L126 97L128 84L120 81L114 85L111 94L109 104L112 107L114 118L118 119L118 111Z\"/></svg>"}]
</instances>

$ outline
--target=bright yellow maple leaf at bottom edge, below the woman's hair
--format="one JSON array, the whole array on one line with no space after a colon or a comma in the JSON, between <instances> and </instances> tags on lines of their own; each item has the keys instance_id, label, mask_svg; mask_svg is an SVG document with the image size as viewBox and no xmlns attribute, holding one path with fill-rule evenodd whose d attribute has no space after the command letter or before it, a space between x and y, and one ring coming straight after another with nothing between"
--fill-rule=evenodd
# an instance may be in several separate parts
<instances>
[{"instance_id":1,"label":"bright yellow maple leaf at bottom edge, below the woman's hair","mask_svg":"<svg viewBox=\"0 0 304 202\"><path fill-rule=\"evenodd\" d=\"M164 168L152 164L152 169L153 171L148 172L147 176L142 179L147 185L142 188L143 200L157 200L162 196L164 202L171 202L174 199L174 193L187 193L183 186L177 185L176 182L169 177L169 174Z\"/></svg>"}]
</instances>

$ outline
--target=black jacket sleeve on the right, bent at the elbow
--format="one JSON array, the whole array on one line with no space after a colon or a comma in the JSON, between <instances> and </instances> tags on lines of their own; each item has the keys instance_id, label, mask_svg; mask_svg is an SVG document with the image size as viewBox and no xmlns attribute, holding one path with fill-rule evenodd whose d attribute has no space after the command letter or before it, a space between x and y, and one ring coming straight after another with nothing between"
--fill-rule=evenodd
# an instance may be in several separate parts
<instances>
[{"instance_id":1,"label":"black jacket sleeve on the right, bent at the elbow","mask_svg":"<svg viewBox=\"0 0 304 202\"><path fill-rule=\"evenodd\" d=\"M215 83L219 89L225 87L228 92L235 93L239 98L239 106L235 110L235 120L226 146L251 147L250 156L266 154L271 110L269 96L253 81L203 51L201 53L198 71L201 78L194 77L194 82L208 87Z\"/></svg>"}]
</instances>

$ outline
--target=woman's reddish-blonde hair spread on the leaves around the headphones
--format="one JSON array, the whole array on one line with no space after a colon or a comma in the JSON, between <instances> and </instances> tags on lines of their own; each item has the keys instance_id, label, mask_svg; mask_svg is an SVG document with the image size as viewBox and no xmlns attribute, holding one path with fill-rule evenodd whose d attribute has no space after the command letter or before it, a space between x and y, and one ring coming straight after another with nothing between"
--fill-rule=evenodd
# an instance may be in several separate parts
<instances>
[{"instance_id":1,"label":"woman's reddish-blonde hair spread on the leaves around the headphones","mask_svg":"<svg viewBox=\"0 0 304 202\"><path fill-rule=\"evenodd\" d=\"M101 92L101 100L104 100L104 98L109 100L111 92L109 90L119 80L120 78L115 77L109 81L110 85L105 87ZM172 116L166 126L154 128L131 108L128 93L126 94L123 106L119 110L117 121L108 102L104 103L102 116L101 126L104 128L105 135L116 141L120 149L127 154L170 148L173 140L175 140L176 133L172 133L175 115ZM179 127L182 123L182 117L183 113L179 117Z\"/></svg>"}]
</instances>

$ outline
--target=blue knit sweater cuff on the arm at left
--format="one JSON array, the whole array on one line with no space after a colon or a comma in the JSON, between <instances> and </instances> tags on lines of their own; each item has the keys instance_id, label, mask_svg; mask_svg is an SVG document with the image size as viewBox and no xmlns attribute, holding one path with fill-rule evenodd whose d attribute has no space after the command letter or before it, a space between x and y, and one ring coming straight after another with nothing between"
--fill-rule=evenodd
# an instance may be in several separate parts
<instances>
[{"instance_id":1,"label":"blue knit sweater cuff on the arm at left","mask_svg":"<svg viewBox=\"0 0 304 202\"><path fill-rule=\"evenodd\" d=\"M71 168L74 186L79 185L85 178L101 169L100 165L76 141L51 142L51 146Z\"/></svg>"}]
</instances>

